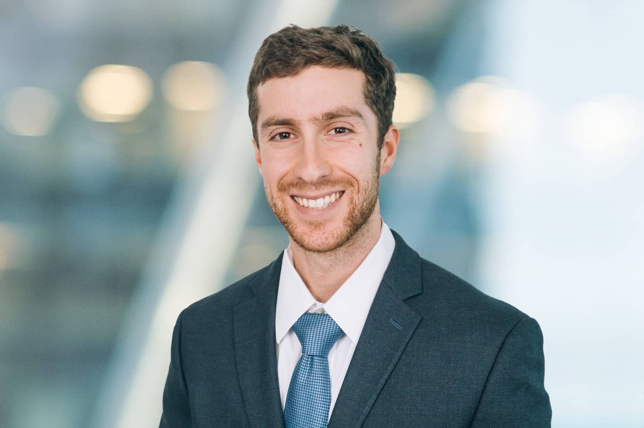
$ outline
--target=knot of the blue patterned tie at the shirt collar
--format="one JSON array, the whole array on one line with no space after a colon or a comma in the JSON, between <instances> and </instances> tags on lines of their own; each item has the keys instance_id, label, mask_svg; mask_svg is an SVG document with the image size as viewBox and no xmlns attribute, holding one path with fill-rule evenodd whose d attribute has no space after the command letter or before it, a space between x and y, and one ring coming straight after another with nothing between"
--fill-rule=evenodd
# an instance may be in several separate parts
<instances>
[{"instance_id":1,"label":"knot of the blue patterned tie at the shirt collar","mask_svg":"<svg viewBox=\"0 0 644 428\"><path fill-rule=\"evenodd\" d=\"M302 344L302 353L323 357L344 334L329 314L303 314L293 325L293 330Z\"/></svg>"}]
</instances>

